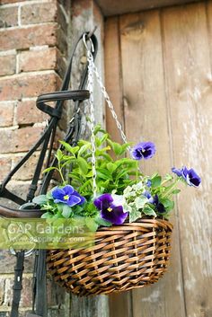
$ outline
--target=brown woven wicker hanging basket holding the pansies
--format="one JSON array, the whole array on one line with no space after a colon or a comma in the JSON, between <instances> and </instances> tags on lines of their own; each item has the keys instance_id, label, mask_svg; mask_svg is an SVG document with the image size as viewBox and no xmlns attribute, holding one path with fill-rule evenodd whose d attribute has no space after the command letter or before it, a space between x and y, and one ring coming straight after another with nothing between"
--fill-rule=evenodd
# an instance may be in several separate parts
<instances>
[{"instance_id":1,"label":"brown woven wicker hanging basket holding the pansies","mask_svg":"<svg viewBox=\"0 0 212 317\"><path fill-rule=\"evenodd\" d=\"M167 269L171 234L172 225L157 218L103 227L91 248L49 251L49 273L75 295L147 286Z\"/></svg>"}]
</instances>

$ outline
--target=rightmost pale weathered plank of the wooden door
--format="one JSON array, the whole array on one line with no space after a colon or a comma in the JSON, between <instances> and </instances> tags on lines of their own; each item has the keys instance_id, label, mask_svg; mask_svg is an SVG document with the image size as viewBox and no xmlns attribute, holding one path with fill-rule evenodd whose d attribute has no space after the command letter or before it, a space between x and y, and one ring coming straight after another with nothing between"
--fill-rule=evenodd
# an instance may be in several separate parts
<instances>
[{"instance_id":1,"label":"rightmost pale weathered plank of the wooden door","mask_svg":"<svg viewBox=\"0 0 212 317\"><path fill-rule=\"evenodd\" d=\"M205 4L163 11L164 60L171 114L173 161L196 169L200 189L183 189L178 202L186 315L212 315L211 266L211 43L212 9ZM211 45L211 44L210 44ZM179 314L180 315L180 314Z\"/></svg>"}]
</instances>

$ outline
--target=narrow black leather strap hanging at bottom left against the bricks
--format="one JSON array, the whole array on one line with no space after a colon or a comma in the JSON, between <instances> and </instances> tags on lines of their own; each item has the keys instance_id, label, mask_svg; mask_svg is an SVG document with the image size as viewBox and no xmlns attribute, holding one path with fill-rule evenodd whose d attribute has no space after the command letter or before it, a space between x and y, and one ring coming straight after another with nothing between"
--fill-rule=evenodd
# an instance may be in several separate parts
<instances>
[{"instance_id":1,"label":"narrow black leather strap hanging at bottom left against the bricks","mask_svg":"<svg viewBox=\"0 0 212 317\"><path fill-rule=\"evenodd\" d=\"M11 317L18 317L19 304L22 295L22 273L23 273L24 251L16 253L16 265L14 268L13 302Z\"/></svg>"}]
</instances>

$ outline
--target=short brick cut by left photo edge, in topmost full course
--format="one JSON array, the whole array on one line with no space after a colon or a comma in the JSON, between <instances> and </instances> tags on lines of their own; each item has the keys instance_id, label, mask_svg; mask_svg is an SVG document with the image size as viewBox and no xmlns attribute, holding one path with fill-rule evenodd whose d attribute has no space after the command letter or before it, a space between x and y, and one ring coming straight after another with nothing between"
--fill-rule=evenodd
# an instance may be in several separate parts
<instances>
[{"instance_id":1,"label":"short brick cut by left photo edge, in topmost full course","mask_svg":"<svg viewBox=\"0 0 212 317\"><path fill-rule=\"evenodd\" d=\"M0 27L8 28L15 25L18 25L18 6L0 7Z\"/></svg>"}]
</instances>

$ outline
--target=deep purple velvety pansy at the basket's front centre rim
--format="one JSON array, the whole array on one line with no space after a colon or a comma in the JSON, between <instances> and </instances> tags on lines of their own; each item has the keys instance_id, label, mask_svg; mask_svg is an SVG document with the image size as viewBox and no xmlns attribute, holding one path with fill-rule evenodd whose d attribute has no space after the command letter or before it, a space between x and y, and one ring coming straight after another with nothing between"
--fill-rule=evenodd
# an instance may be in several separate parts
<instances>
[{"instance_id":1,"label":"deep purple velvety pansy at the basket's front centre rim","mask_svg":"<svg viewBox=\"0 0 212 317\"><path fill-rule=\"evenodd\" d=\"M128 212L123 211L123 199L119 195L103 194L95 198L93 204L101 211L102 219L112 225L121 225L128 216Z\"/></svg>"}]
</instances>

